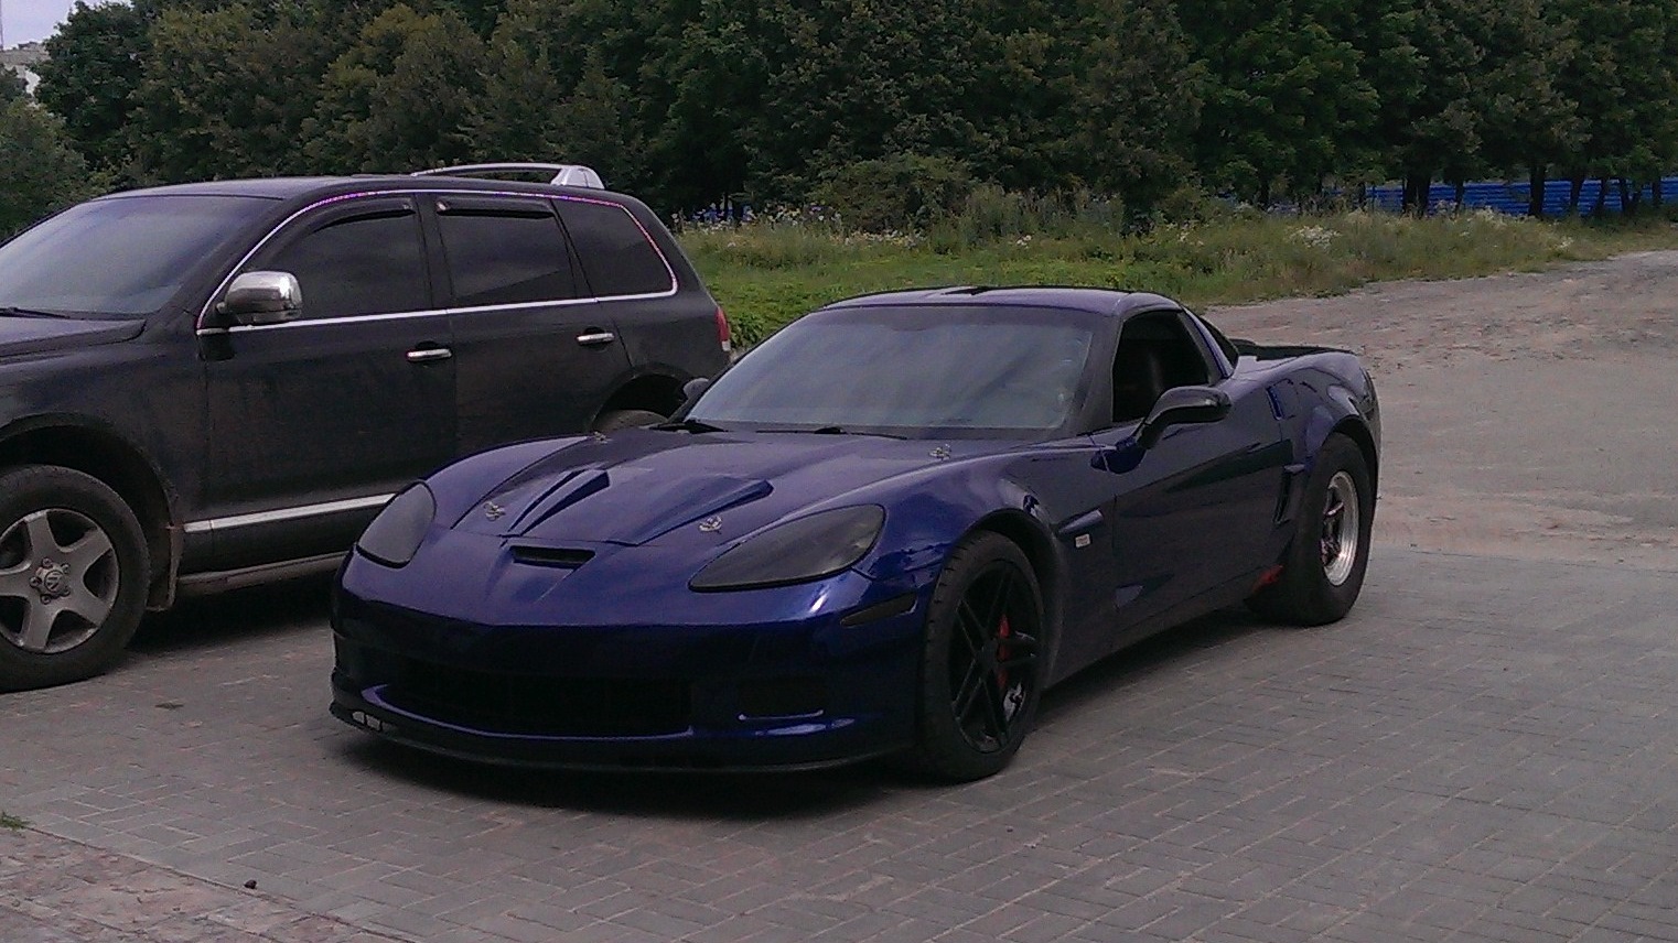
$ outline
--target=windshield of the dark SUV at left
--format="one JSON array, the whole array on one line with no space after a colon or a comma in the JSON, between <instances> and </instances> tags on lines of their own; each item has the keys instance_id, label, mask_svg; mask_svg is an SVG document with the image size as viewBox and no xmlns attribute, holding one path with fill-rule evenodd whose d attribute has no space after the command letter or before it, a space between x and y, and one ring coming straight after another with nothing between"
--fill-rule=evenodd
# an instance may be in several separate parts
<instances>
[{"instance_id":1,"label":"windshield of the dark SUV at left","mask_svg":"<svg viewBox=\"0 0 1678 943\"><path fill-rule=\"evenodd\" d=\"M243 223L257 196L92 200L0 245L0 309L133 317L163 307Z\"/></svg>"}]
</instances>

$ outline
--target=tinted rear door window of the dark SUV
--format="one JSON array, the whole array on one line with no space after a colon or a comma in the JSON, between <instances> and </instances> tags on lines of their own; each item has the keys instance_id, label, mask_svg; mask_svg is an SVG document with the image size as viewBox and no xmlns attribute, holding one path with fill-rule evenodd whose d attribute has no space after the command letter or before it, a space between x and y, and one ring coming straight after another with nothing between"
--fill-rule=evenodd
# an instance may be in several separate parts
<instances>
[{"instance_id":1,"label":"tinted rear door window of the dark SUV","mask_svg":"<svg viewBox=\"0 0 1678 943\"><path fill-rule=\"evenodd\" d=\"M534 210L450 206L438 216L455 304L577 297L565 233L545 201L530 205Z\"/></svg>"}]
</instances>

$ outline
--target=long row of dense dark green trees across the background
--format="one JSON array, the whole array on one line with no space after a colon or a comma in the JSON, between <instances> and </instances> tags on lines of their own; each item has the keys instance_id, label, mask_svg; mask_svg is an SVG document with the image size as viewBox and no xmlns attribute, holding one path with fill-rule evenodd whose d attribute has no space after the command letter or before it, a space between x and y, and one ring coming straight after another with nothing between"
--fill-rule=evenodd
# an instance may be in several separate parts
<instances>
[{"instance_id":1,"label":"long row of dense dark green trees across the background","mask_svg":"<svg viewBox=\"0 0 1678 943\"><path fill-rule=\"evenodd\" d=\"M990 186L1134 230L1678 166L1678 0L136 0L47 49L7 141L76 191L537 159L666 211L926 230Z\"/></svg>"}]
</instances>

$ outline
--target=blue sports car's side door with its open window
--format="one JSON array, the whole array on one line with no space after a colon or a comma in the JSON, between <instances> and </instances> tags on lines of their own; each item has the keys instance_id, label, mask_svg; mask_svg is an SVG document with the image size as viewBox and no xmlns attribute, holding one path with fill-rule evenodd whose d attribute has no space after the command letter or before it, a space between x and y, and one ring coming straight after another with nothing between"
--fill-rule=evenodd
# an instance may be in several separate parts
<instances>
[{"instance_id":1,"label":"blue sports car's side door with its open window","mask_svg":"<svg viewBox=\"0 0 1678 943\"><path fill-rule=\"evenodd\" d=\"M1165 431L1151 448L1136 433L1161 393L1215 386L1230 413L1212 423ZM1113 425L1094 433L1092 475L1104 477L1099 508L1106 572L1087 574L1111 597L1104 626L1089 626L1096 648L1186 617L1208 594L1240 587L1264 565L1275 529L1289 450L1264 389L1223 376L1205 341L1180 310L1129 317L1113 364Z\"/></svg>"}]
</instances>

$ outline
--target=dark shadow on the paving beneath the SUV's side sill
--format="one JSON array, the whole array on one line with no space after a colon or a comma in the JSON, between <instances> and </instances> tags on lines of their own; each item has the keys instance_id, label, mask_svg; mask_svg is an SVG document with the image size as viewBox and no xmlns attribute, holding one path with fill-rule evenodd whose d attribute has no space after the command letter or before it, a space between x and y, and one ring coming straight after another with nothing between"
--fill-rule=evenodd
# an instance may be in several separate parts
<instances>
[{"instance_id":1,"label":"dark shadow on the paving beneath the SUV's side sill","mask_svg":"<svg viewBox=\"0 0 1678 943\"><path fill-rule=\"evenodd\" d=\"M324 628L331 587L332 577L322 574L183 599L166 612L149 612L129 651L169 654Z\"/></svg>"}]
</instances>

